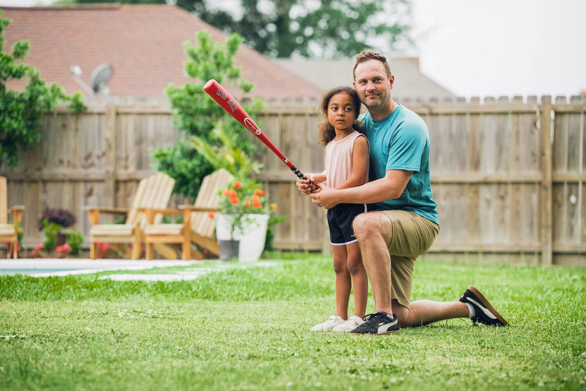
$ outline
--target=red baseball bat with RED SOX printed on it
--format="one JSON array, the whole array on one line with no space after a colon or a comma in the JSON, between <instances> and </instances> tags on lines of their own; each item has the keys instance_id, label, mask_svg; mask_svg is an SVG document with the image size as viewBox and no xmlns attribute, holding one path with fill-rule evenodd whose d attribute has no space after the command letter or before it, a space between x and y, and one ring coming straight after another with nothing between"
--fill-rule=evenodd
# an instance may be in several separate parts
<instances>
[{"instance_id":1,"label":"red baseball bat with RED SOX printed on it","mask_svg":"<svg viewBox=\"0 0 586 391\"><path fill-rule=\"evenodd\" d=\"M264 134L264 132L258 127L257 124L254 123L250 115L244 111L244 109L238 104L236 99L234 99L224 87L220 86L216 80L212 79L207 81L206 85L203 86L203 90L212 97L213 100L216 101L217 104L220 105L226 113L230 114L234 117L234 120L238 121L242 124L243 127L247 128L252 134L254 134L260 141L264 143L267 147L271 148L272 152L275 152L281 161L283 161L290 169L297 175L299 178L304 179L307 181L307 177L299 171L297 167L289 160L283 152L279 150L279 148L275 147L275 144L272 144L271 140ZM314 188L315 189L315 188ZM313 189L312 189L313 190Z\"/></svg>"}]
</instances>

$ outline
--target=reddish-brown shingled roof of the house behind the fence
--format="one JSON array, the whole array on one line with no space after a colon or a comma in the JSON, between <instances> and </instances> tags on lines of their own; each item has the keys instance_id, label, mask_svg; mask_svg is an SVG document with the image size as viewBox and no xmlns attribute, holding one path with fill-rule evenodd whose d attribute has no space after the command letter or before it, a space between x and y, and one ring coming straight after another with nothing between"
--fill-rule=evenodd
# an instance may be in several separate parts
<instances>
[{"instance_id":1,"label":"reddish-brown shingled roof of the house behind the fence","mask_svg":"<svg viewBox=\"0 0 586 391\"><path fill-rule=\"evenodd\" d=\"M81 79L90 84L91 72L101 63L114 66L108 82L111 96L164 97L169 83L188 82L183 42L207 30L214 40L226 35L177 6L92 4L49 7L0 7L12 19L6 29L11 47L30 42L25 62L37 67L43 79L56 81L67 93L83 89L71 78L79 65ZM301 76L241 45L236 64L243 77L255 83L251 96L265 99L316 98L322 90ZM22 83L11 87L22 89Z\"/></svg>"}]
</instances>

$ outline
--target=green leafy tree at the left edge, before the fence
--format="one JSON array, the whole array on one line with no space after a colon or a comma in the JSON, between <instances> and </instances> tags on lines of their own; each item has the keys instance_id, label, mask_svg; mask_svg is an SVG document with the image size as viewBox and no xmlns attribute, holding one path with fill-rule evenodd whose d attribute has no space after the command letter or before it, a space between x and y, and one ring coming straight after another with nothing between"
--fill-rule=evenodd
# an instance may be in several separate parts
<instances>
[{"instance_id":1,"label":"green leafy tree at the left edge, before the fence","mask_svg":"<svg viewBox=\"0 0 586 391\"><path fill-rule=\"evenodd\" d=\"M11 52L4 52L4 31L10 22L0 11L0 163L8 161L9 166L16 166L20 162L18 150L40 140L43 114L62 100L70 100L73 111L83 111L86 106L80 93L67 96L56 83L47 85L40 79L38 69L21 62L29 51L28 41L15 42ZM20 79L29 80L25 91L8 90L9 80Z\"/></svg>"}]
</instances>

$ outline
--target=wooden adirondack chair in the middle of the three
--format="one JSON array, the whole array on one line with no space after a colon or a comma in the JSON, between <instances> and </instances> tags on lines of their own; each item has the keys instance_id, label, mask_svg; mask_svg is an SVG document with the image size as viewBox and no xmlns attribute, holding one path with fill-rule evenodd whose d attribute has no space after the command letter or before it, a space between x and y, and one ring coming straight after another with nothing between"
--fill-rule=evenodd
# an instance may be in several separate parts
<instances>
[{"instance_id":1,"label":"wooden adirondack chair in the middle of the three","mask_svg":"<svg viewBox=\"0 0 586 391\"><path fill-rule=\"evenodd\" d=\"M166 208L175 186L175 179L158 172L141 179L130 209L126 208L88 208L90 220L90 258L97 258L96 243L132 243L132 259L139 259L141 243L147 219L144 208ZM125 214L125 224L100 224L100 213ZM157 214L154 221L161 222L163 215Z\"/></svg>"}]
</instances>

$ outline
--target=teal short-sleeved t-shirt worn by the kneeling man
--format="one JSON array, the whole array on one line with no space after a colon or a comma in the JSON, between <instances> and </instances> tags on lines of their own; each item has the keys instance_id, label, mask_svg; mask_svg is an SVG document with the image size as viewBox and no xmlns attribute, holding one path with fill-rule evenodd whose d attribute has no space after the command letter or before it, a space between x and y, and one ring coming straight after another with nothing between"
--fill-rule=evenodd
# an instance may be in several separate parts
<instances>
[{"instance_id":1,"label":"teal short-sleeved t-shirt worn by the kneeling man","mask_svg":"<svg viewBox=\"0 0 586 391\"><path fill-rule=\"evenodd\" d=\"M430 134L423 119L402 105L380 121L368 112L359 119L370 143L370 182L390 169L413 171L399 198L374 203L369 210L408 210L439 225L430 184Z\"/></svg>"}]
</instances>

